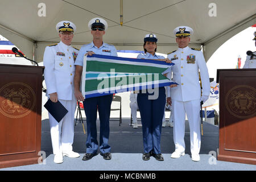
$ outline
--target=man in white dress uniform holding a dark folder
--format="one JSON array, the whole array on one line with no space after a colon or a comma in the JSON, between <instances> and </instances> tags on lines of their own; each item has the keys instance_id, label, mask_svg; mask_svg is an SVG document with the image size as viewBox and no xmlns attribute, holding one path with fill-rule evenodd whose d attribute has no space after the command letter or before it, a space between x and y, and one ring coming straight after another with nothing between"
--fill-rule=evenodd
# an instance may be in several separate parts
<instances>
[{"instance_id":1,"label":"man in white dress uniform holding a dark folder","mask_svg":"<svg viewBox=\"0 0 256 182\"><path fill-rule=\"evenodd\" d=\"M49 113L54 162L62 163L63 156L70 158L80 156L72 151L76 110L73 85L74 63L79 50L71 46L73 32L76 31L75 24L70 21L61 21L56 24L56 30L59 32L61 41L46 47L43 63L48 98L52 102L60 101L68 110L60 122L57 122Z\"/></svg>"}]
</instances>

